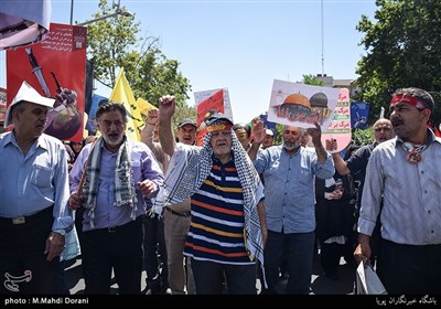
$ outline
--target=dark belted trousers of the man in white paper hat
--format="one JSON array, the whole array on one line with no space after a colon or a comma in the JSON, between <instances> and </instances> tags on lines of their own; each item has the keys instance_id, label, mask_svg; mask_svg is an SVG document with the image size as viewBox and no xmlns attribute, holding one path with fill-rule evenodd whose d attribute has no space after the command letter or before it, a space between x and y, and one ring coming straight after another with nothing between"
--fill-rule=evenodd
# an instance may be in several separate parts
<instances>
[{"instance_id":1,"label":"dark belted trousers of the man in white paper hat","mask_svg":"<svg viewBox=\"0 0 441 309\"><path fill-rule=\"evenodd\" d=\"M13 224L0 219L0 295L56 295L60 258L47 262L46 238L53 224L53 207Z\"/></svg>"}]
</instances>

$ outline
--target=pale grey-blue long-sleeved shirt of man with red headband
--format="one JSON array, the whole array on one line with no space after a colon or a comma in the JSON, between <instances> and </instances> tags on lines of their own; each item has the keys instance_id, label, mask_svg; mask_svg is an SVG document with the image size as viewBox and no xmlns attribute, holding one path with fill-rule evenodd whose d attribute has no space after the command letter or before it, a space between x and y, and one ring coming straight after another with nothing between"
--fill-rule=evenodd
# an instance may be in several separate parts
<instances>
[{"instance_id":1,"label":"pale grey-blue long-sleeved shirt of man with red headband","mask_svg":"<svg viewBox=\"0 0 441 309\"><path fill-rule=\"evenodd\" d=\"M384 196L383 238L407 245L441 244L441 139L432 132L429 139L419 163L406 160L398 138L374 149L366 168L359 233L372 235Z\"/></svg>"}]
</instances>

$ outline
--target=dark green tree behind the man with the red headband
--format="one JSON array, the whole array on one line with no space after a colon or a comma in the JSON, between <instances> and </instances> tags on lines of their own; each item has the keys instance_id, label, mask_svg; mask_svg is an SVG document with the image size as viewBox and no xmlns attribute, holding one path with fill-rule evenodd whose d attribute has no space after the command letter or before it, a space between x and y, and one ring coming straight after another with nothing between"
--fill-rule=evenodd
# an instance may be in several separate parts
<instances>
[{"instance_id":1,"label":"dark green tree behind the man with the red headband","mask_svg":"<svg viewBox=\"0 0 441 309\"><path fill-rule=\"evenodd\" d=\"M381 107L389 110L397 88L419 87L438 105L441 99L441 1L377 0L376 6L377 22L362 15L356 28L365 34L361 44L367 54L358 62L361 92L355 99L370 103L370 124ZM432 115L435 124L440 109Z\"/></svg>"}]
</instances>

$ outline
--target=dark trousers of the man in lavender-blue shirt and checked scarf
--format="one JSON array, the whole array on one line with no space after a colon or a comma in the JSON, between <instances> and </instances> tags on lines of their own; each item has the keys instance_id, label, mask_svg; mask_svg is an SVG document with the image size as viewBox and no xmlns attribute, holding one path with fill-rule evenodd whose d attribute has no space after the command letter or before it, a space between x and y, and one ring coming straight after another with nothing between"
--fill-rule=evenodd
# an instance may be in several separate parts
<instances>
[{"instance_id":1,"label":"dark trousers of the man in lavender-blue shirt and checked scarf","mask_svg":"<svg viewBox=\"0 0 441 309\"><path fill-rule=\"evenodd\" d=\"M83 234L85 294L110 294L111 270L119 294L141 294L142 221Z\"/></svg>"}]
</instances>

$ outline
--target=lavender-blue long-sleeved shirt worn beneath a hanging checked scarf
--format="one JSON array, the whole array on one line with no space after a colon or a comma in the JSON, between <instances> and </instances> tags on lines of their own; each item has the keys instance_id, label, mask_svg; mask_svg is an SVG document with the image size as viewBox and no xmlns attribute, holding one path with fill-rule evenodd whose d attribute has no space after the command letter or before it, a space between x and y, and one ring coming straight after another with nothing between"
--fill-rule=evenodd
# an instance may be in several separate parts
<instances>
[{"instance_id":1,"label":"lavender-blue long-sleeved shirt worn beneath a hanging checked scarf","mask_svg":"<svg viewBox=\"0 0 441 309\"><path fill-rule=\"evenodd\" d=\"M159 187L164 180L164 175L158 161L154 159L151 150L143 142L132 141L132 146L131 167L133 171L133 183L149 179L157 185L155 194L158 194ZM75 192L78 189L83 170L87 158L89 157L92 147L93 143L86 145L75 161L74 168L69 174L71 192ZM94 230L109 226L120 226L131 221L131 207L129 205L114 205L117 156L118 152L110 152L106 150L103 143ZM143 194L138 189L136 191L138 199L136 216L138 217L147 213L147 203ZM83 231L90 230L90 216L86 210L84 212Z\"/></svg>"}]
</instances>

